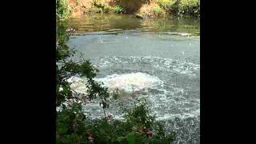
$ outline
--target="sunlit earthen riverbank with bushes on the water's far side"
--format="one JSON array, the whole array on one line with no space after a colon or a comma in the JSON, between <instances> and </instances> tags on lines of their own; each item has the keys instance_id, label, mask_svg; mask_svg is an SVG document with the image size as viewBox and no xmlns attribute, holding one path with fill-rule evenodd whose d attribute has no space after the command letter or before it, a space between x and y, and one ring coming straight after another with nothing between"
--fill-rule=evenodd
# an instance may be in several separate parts
<instances>
[{"instance_id":1,"label":"sunlit earthen riverbank with bushes on the water's far side","mask_svg":"<svg viewBox=\"0 0 256 144\"><path fill-rule=\"evenodd\" d=\"M70 0L70 6L72 17L94 13L134 14L137 18L200 17L199 0Z\"/></svg>"}]
</instances>

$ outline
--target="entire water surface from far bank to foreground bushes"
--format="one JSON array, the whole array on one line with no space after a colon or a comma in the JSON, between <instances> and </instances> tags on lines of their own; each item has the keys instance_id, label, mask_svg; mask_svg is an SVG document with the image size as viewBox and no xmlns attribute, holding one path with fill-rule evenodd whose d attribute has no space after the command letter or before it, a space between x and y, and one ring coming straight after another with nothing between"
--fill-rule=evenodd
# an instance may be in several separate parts
<instances>
[{"instance_id":1,"label":"entire water surface from far bank to foreground bushes","mask_svg":"<svg viewBox=\"0 0 256 144\"><path fill-rule=\"evenodd\" d=\"M124 98L111 103L108 114L122 119L118 103L129 106L136 92L150 102L159 121L177 132L175 143L200 143L198 19L93 14L71 19L70 28L76 31L69 45L98 67L97 80L110 90L125 92ZM75 90L86 90L83 78L73 81ZM92 110L92 117L102 116L98 102L86 105L85 113Z\"/></svg>"}]
</instances>

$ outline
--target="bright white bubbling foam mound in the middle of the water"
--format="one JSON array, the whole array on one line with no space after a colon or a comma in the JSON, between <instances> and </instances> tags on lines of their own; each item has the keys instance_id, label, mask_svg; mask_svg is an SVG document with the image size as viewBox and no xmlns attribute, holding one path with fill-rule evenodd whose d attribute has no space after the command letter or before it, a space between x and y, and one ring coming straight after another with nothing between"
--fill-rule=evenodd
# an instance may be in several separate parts
<instances>
[{"instance_id":1,"label":"bright white bubbling foam mound in the middle of the water","mask_svg":"<svg viewBox=\"0 0 256 144\"><path fill-rule=\"evenodd\" d=\"M112 74L105 78L95 78L96 82L103 82L103 86L110 90L125 90L126 92L133 92L139 90L146 90L147 88L154 88L154 86L161 86L162 80L149 74L131 73L131 74ZM68 79L71 82L71 89L78 93L86 94L86 79L72 77Z\"/></svg>"}]
</instances>

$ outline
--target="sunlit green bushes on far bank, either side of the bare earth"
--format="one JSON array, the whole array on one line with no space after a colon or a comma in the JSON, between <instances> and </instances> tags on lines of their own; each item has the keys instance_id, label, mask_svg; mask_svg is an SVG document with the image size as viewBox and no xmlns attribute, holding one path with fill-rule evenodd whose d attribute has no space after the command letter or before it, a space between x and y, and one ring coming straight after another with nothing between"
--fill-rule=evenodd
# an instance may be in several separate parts
<instances>
[{"instance_id":1,"label":"sunlit green bushes on far bank, either side of the bare earth","mask_svg":"<svg viewBox=\"0 0 256 144\"><path fill-rule=\"evenodd\" d=\"M122 7L121 3L127 3L128 0L117 0L116 5L114 7L109 6L106 2L102 0L93 0L91 4L93 5L90 8L90 12L92 13L117 13L117 14L125 14L127 11L126 7ZM148 0L140 1L144 4L149 3ZM151 10L152 14L142 14L143 17L160 17L164 16L167 13L169 14L177 14L177 15L191 15L191 16L200 16L200 5L198 0L156 0L158 3L157 6L154 6Z\"/></svg>"}]
</instances>

